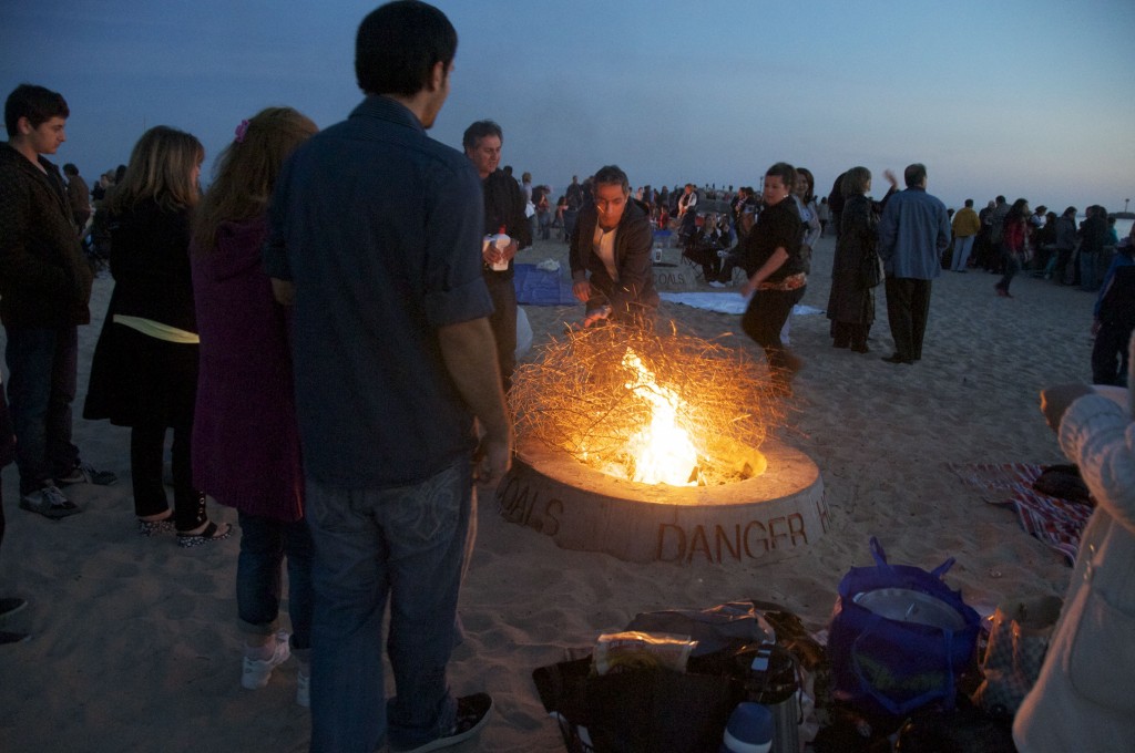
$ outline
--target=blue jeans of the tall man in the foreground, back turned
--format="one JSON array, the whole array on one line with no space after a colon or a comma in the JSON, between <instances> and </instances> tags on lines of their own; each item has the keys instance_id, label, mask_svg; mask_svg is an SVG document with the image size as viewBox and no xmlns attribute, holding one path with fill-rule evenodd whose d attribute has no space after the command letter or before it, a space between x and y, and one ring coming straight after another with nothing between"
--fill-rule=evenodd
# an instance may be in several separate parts
<instances>
[{"instance_id":1,"label":"blue jeans of the tall man in the foreground, back turned","mask_svg":"<svg viewBox=\"0 0 1135 753\"><path fill-rule=\"evenodd\" d=\"M448 734L456 714L446 665L470 518L462 457L414 485L350 490L306 481L316 547L311 751L371 753L389 735L410 748ZM470 542L471 548L471 542ZM397 695L385 700L382 617Z\"/></svg>"}]
</instances>

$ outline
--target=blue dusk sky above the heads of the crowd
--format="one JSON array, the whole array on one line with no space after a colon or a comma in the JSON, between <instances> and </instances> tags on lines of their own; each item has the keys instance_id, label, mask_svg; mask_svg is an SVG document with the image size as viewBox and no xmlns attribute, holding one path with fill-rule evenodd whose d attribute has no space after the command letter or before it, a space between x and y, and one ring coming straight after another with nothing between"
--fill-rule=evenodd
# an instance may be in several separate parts
<instances>
[{"instance_id":1,"label":"blue dusk sky above the heads of the crowd","mask_svg":"<svg viewBox=\"0 0 1135 753\"><path fill-rule=\"evenodd\" d=\"M126 162L146 127L205 145L288 104L361 101L354 35L376 2L40 0L0 7L0 87L59 91L54 161ZM949 206L997 194L1062 211L1135 198L1135 2L436 3L460 39L431 135L504 128L503 163L562 191L603 164L633 185L759 185L785 160L826 194L842 170L924 162Z\"/></svg>"}]
</instances>

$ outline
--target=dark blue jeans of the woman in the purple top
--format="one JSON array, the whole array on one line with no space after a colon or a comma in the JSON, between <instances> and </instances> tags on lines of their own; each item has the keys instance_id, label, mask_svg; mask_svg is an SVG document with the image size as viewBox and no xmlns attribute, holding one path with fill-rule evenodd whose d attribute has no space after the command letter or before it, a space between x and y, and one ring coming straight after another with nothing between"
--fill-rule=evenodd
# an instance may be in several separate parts
<instances>
[{"instance_id":1,"label":"dark blue jeans of the woman in the purple top","mask_svg":"<svg viewBox=\"0 0 1135 753\"><path fill-rule=\"evenodd\" d=\"M236 610L241 629L255 635L276 632L287 556L287 603L292 648L311 645L311 532L301 518L284 523L239 514L241 556L236 560Z\"/></svg>"}]
</instances>

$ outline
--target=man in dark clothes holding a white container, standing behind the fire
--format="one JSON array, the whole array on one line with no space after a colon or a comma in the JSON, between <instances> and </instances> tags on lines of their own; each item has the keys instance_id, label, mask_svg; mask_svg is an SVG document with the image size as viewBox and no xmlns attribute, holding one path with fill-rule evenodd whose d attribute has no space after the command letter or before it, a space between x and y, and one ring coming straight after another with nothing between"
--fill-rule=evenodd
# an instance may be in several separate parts
<instances>
[{"instance_id":1,"label":"man in dark clothes holding a white container, standing behind the fire","mask_svg":"<svg viewBox=\"0 0 1135 753\"><path fill-rule=\"evenodd\" d=\"M485 264L485 285L493 297L489 323L497 344L497 362L504 391L512 387L512 372L516 367L516 289L513 287L513 256L532 245L532 225L524 214L528 201L516 181L503 170L501 146L504 132L491 120L478 120L461 139L477 174L481 177L485 194L485 235L506 235L507 243L486 243L481 252Z\"/></svg>"}]
</instances>

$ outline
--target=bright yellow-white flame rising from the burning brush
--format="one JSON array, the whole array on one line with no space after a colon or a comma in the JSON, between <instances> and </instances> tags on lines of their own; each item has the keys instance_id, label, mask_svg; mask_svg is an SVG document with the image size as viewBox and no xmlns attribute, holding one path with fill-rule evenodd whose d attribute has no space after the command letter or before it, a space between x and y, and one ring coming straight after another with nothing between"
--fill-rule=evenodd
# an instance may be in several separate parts
<instances>
[{"instance_id":1,"label":"bright yellow-white flame rising from the burning brush","mask_svg":"<svg viewBox=\"0 0 1135 753\"><path fill-rule=\"evenodd\" d=\"M627 382L627 389L646 401L651 414L650 422L627 442L627 452L633 458L631 481L674 487L693 483L698 454L689 433L678 424L682 398L673 389L659 384L630 348L623 355L623 366L634 376Z\"/></svg>"}]
</instances>

